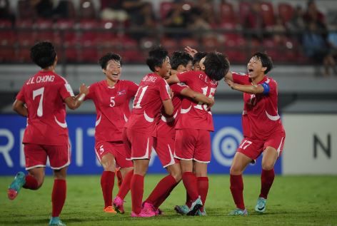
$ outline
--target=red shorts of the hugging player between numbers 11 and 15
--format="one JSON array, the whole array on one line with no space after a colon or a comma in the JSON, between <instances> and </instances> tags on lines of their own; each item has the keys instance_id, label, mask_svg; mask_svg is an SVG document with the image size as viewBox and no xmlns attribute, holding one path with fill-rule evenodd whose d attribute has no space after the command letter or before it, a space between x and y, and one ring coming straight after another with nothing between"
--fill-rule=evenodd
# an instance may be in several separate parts
<instances>
[{"instance_id":1,"label":"red shorts of the hugging player between numbers 11 and 15","mask_svg":"<svg viewBox=\"0 0 337 226\"><path fill-rule=\"evenodd\" d=\"M174 140L171 137L157 137L154 138L154 150L161 160L161 165L166 168L174 163L179 163L179 160L173 158L174 155Z\"/></svg>"}]
</instances>

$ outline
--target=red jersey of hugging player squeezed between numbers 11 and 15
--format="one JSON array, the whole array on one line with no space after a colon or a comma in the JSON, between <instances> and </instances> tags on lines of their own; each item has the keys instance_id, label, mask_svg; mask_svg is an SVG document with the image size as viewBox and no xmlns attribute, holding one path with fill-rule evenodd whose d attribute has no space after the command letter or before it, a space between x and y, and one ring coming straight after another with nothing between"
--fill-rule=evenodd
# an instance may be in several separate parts
<instances>
[{"instance_id":1,"label":"red jersey of hugging player squeezed between numbers 11 and 15","mask_svg":"<svg viewBox=\"0 0 337 226\"><path fill-rule=\"evenodd\" d=\"M184 88L188 88L184 83L176 83L170 85L171 91L173 91L173 115L168 116L164 112L164 109L161 111L161 120L157 124L157 136L167 137L169 135L174 139L176 137L176 130L174 129L178 121L181 103L183 101L183 96L181 96L181 91Z\"/></svg>"}]
</instances>

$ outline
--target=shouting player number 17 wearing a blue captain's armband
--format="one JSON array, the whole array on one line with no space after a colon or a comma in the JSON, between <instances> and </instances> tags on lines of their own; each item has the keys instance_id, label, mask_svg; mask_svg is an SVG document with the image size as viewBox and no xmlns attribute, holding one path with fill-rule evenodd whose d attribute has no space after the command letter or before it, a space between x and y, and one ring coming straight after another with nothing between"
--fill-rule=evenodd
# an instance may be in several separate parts
<instances>
[{"instance_id":1,"label":"shouting player number 17 wearing a blue captain's armband","mask_svg":"<svg viewBox=\"0 0 337 226\"><path fill-rule=\"evenodd\" d=\"M229 215L247 215L243 202L242 173L246 166L263 153L261 193L256 212L266 211L268 192L273 184L273 167L281 155L286 133L278 115L277 83L266 76L273 68L265 53L253 54L248 62L248 74L228 72L225 81L232 89L243 92L243 140L236 150L230 171L231 193L236 209Z\"/></svg>"}]
</instances>

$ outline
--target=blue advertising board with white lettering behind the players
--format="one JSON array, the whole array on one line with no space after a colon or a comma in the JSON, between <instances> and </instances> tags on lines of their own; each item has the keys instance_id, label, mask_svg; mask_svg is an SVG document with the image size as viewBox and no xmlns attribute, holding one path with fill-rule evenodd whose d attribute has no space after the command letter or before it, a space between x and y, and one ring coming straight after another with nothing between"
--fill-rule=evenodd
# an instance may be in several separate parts
<instances>
[{"instance_id":1,"label":"blue advertising board with white lettering behind the players","mask_svg":"<svg viewBox=\"0 0 337 226\"><path fill-rule=\"evenodd\" d=\"M68 115L67 124L71 142L71 165L69 174L100 174L102 171L94 152L96 115ZM242 135L241 115L213 115L215 131L211 133L212 160L208 173L229 173L231 161ZM21 144L26 127L26 118L19 115L0 115L0 175L14 175L24 170L24 147ZM149 173L165 173L153 152ZM275 165L275 172L281 173L281 160ZM261 158L255 165L249 165L245 173L261 173ZM51 174L47 167L46 174Z\"/></svg>"}]
</instances>

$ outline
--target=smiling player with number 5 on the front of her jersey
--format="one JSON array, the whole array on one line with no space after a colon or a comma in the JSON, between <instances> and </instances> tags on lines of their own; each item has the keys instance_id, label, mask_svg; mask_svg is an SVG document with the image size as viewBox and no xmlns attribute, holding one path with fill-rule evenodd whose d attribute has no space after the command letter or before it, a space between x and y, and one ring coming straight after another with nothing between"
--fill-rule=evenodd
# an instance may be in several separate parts
<instances>
[{"instance_id":1,"label":"smiling player with number 5 on the front of her jersey","mask_svg":"<svg viewBox=\"0 0 337 226\"><path fill-rule=\"evenodd\" d=\"M130 115L129 101L135 96L138 85L119 79L121 56L118 54L106 53L99 59L99 65L106 79L91 85L86 99L94 101L97 113L95 151L104 168L101 175L104 212L116 213L112 207L116 165L124 176L133 169L131 160L126 160L122 130Z\"/></svg>"}]
</instances>

